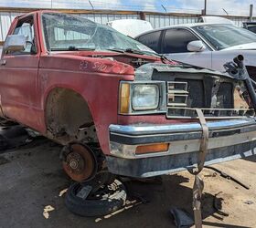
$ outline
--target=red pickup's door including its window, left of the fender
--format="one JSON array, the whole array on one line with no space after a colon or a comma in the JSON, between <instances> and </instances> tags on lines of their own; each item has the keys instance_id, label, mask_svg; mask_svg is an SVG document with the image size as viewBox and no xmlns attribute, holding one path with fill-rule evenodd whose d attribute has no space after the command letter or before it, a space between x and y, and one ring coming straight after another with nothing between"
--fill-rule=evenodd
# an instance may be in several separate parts
<instances>
[{"instance_id":1,"label":"red pickup's door including its window, left of the fender","mask_svg":"<svg viewBox=\"0 0 256 228\"><path fill-rule=\"evenodd\" d=\"M27 36L26 49L19 52L3 50L0 63L0 104L5 117L37 129L37 71L39 46L37 16L23 16L9 35Z\"/></svg>"}]
</instances>

